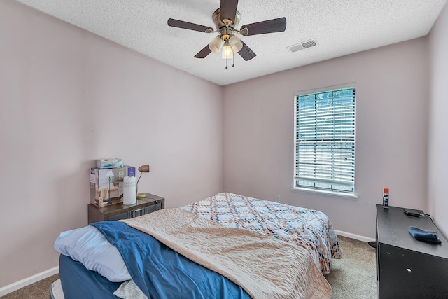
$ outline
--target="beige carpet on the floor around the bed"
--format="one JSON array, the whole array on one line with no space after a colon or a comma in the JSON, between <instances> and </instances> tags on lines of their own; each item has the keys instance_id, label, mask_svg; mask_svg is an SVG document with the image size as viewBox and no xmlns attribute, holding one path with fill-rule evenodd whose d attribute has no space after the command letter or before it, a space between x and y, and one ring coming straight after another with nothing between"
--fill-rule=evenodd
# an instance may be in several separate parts
<instances>
[{"instance_id":1,"label":"beige carpet on the floor around the bed","mask_svg":"<svg viewBox=\"0 0 448 299\"><path fill-rule=\"evenodd\" d=\"M333 289L332 299L377 298L375 249L366 242L339 237L342 259L332 260L326 277ZM9 293L1 299L48 299L50 285L59 279L53 275Z\"/></svg>"}]
</instances>

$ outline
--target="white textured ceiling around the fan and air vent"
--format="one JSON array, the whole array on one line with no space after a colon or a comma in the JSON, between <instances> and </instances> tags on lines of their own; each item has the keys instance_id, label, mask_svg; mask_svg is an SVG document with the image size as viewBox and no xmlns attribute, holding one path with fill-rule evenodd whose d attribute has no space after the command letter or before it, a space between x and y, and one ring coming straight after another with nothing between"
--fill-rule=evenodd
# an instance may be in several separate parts
<instances>
[{"instance_id":1,"label":"white textured ceiling around the fan and air vent","mask_svg":"<svg viewBox=\"0 0 448 299\"><path fill-rule=\"evenodd\" d=\"M194 58L216 33L167 25L168 18L214 28L219 0L18 0L218 85L426 36L447 0L239 0L241 25L286 17L285 32L239 36L257 56L225 69L221 55ZM239 29L239 28L238 28ZM317 46L288 46L315 39Z\"/></svg>"}]
</instances>

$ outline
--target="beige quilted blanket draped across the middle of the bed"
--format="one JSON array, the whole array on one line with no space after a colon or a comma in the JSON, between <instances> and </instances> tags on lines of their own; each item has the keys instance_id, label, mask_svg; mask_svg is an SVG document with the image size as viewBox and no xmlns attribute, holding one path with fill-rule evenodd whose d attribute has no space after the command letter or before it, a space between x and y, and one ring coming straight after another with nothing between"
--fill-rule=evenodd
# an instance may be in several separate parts
<instances>
[{"instance_id":1,"label":"beige quilted blanket draped across the middle of the bed","mask_svg":"<svg viewBox=\"0 0 448 299\"><path fill-rule=\"evenodd\" d=\"M227 277L244 288L251 298L331 297L330 284L308 251L289 242L252 230L226 227L179 208L162 209L123 222L155 237L182 256ZM174 274L186 277L181 269L176 269ZM200 276L195 279L198 283L204 280ZM144 286L146 284L141 284L139 288L144 289ZM176 284L169 283L167 287L176 288ZM214 287L210 285L210 288ZM230 293L221 296L230 297ZM178 295L175 298L181 297ZM193 297L185 294L183 298Z\"/></svg>"}]
</instances>

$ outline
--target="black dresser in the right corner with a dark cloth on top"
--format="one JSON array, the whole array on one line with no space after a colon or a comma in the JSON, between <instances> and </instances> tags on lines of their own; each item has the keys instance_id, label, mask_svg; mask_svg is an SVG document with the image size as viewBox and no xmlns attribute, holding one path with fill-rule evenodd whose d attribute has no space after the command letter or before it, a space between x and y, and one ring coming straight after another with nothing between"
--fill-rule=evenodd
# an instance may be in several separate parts
<instances>
[{"instance_id":1,"label":"black dresser in the right corner with a dark cloth on top","mask_svg":"<svg viewBox=\"0 0 448 299\"><path fill-rule=\"evenodd\" d=\"M409 226L437 232L442 244L417 241ZM377 204L376 239L379 299L448 298L448 242L430 218Z\"/></svg>"}]
</instances>

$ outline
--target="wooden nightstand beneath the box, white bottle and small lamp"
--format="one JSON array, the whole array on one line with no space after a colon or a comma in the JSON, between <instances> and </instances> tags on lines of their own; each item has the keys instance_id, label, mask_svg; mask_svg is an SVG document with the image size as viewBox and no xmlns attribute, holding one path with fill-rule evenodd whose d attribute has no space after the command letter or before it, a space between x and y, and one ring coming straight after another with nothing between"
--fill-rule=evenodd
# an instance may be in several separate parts
<instances>
[{"instance_id":1,"label":"wooden nightstand beneath the box, white bottle and small lamp","mask_svg":"<svg viewBox=\"0 0 448 299\"><path fill-rule=\"evenodd\" d=\"M160 209L165 209L165 198L150 193L145 194L146 197L137 199L135 204L111 204L110 206L101 208L94 204L89 204L89 224L106 220L129 219Z\"/></svg>"}]
</instances>

